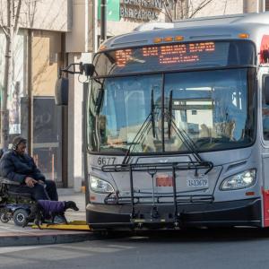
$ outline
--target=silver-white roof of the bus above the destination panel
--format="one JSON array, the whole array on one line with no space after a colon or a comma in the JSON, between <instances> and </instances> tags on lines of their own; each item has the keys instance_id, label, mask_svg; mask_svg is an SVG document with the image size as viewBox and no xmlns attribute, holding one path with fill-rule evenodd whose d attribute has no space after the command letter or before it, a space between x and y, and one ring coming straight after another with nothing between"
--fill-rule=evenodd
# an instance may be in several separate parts
<instances>
[{"instance_id":1,"label":"silver-white roof of the bus above the destination panel","mask_svg":"<svg viewBox=\"0 0 269 269\"><path fill-rule=\"evenodd\" d=\"M182 36L183 41L241 39L247 33L250 40L258 42L262 34L269 34L269 12L244 13L187 19L173 23L151 22L133 32L108 39L105 49L131 48L155 45L156 38ZM147 26L146 26L147 25ZM161 44L166 42L161 42ZM170 43L170 42L167 42Z\"/></svg>"}]
</instances>

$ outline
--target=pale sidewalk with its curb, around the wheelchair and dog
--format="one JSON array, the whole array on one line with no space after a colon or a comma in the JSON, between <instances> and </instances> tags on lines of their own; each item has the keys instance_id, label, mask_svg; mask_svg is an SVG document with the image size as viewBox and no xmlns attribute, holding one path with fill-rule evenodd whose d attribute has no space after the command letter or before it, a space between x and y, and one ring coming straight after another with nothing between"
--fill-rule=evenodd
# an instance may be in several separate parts
<instances>
[{"instance_id":1,"label":"pale sidewalk with its curb, around the wheelchair and dog","mask_svg":"<svg viewBox=\"0 0 269 269\"><path fill-rule=\"evenodd\" d=\"M79 212L66 211L67 221L85 221L85 195L74 193L73 189L58 189L58 194L59 200L72 200L80 209ZM13 221L8 223L0 221L0 247L59 244L80 242L88 239L93 239L91 231L39 230L15 226Z\"/></svg>"}]
</instances>

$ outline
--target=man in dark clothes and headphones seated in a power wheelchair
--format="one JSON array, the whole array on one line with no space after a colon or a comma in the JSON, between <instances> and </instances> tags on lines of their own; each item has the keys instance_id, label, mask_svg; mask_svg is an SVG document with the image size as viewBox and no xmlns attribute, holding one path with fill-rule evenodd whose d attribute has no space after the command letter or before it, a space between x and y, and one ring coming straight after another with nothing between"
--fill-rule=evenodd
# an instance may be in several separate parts
<instances>
[{"instance_id":1,"label":"man in dark clothes and headphones seated in a power wheelchair","mask_svg":"<svg viewBox=\"0 0 269 269\"><path fill-rule=\"evenodd\" d=\"M4 178L19 182L19 186L11 186L16 193L29 193L31 198L38 200L58 200L56 184L47 180L35 162L26 153L27 140L22 136L13 139L12 150L4 152L0 160L0 173Z\"/></svg>"}]
</instances>

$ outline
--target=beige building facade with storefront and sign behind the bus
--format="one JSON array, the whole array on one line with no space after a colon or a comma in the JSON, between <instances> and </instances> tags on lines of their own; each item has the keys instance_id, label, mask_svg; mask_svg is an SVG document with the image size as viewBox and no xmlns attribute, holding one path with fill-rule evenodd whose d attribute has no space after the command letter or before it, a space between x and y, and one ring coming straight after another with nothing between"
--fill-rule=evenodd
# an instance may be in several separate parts
<instances>
[{"instance_id":1,"label":"beige building facade with storefront and sign behind the bus","mask_svg":"<svg viewBox=\"0 0 269 269\"><path fill-rule=\"evenodd\" d=\"M19 0L14 0L16 3ZM69 76L69 105L54 101L58 69L91 62L100 45L98 0L22 1L20 30L14 40L13 87L9 92L10 141L29 138L32 155L47 178L59 187L82 187L82 81ZM262 12L267 0L107 0L108 37L134 30L144 22L169 22L170 17L202 17ZM177 2L176 2L177 3ZM6 25L6 0L0 0L0 25ZM182 11L184 8L184 11ZM5 36L0 30L0 90L4 81ZM2 91L1 91L2 92Z\"/></svg>"}]
</instances>

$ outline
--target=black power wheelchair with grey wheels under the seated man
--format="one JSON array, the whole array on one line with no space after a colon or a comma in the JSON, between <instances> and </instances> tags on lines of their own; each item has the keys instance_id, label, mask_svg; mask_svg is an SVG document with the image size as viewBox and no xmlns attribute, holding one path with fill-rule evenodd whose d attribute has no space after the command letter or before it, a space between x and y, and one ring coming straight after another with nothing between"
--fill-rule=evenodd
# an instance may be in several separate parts
<instances>
[{"instance_id":1,"label":"black power wheelchair with grey wheels under the seated man","mask_svg":"<svg viewBox=\"0 0 269 269\"><path fill-rule=\"evenodd\" d=\"M16 193L11 188L20 183L0 177L0 221L13 220L17 226L23 226L35 201L28 193Z\"/></svg>"}]
</instances>

